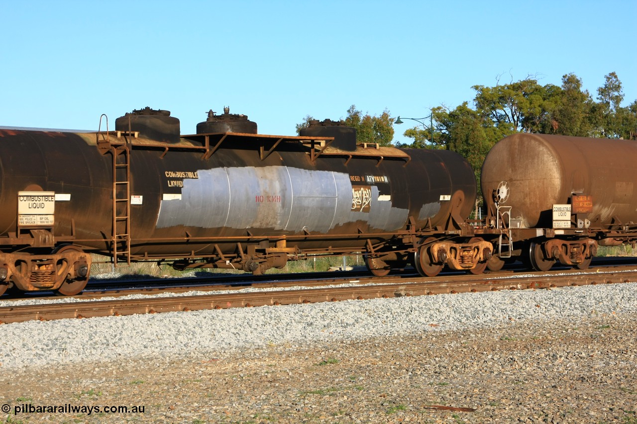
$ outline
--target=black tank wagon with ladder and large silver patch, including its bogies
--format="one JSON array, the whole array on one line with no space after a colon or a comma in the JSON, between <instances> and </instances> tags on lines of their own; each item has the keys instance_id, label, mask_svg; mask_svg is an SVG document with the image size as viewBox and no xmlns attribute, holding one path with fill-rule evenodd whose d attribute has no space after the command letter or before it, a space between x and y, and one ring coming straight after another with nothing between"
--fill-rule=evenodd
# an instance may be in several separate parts
<instances>
[{"instance_id":1,"label":"black tank wagon with ladder and large silver patch, including its bogies","mask_svg":"<svg viewBox=\"0 0 637 424\"><path fill-rule=\"evenodd\" d=\"M0 130L0 290L74 294L87 253L260 273L362 251L375 274L415 262L427 275L489 253L469 241L476 184L457 153L356 145L326 124L175 139L175 119L147 108L116 132Z\"/></svg>"}]
</instances>

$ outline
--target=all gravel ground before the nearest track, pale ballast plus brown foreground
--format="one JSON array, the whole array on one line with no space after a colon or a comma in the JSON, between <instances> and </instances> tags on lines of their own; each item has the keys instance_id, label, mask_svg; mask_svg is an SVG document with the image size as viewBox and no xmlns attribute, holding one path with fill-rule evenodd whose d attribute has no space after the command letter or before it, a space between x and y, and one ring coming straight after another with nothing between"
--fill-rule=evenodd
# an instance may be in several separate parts
<instances>
[{"instance_id":1,"label":"all gravel ground before the nearest track, pale ballast plus brown foreground","mask_svg":"<svg viewBox=\"0 0 637 424\"><path fill-rule=\"evenodd\" d=\"M0 419L637 424L636 294L629 283L1 325ZM101 411L69 411L90 406Z\"/></svg>"}]
</instances>

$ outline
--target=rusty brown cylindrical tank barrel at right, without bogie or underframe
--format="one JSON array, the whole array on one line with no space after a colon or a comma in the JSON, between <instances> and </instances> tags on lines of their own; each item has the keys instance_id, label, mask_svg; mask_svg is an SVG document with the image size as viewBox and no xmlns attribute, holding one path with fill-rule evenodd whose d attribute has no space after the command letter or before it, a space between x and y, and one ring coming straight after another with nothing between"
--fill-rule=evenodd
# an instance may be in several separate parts
<instances>
[{"instance_id":1,"label":"rusty brown cylindrical tank barrel at right, without bogie or underframe","mask_svg":"<svg viewBox=\"0 0 637 424\"><path fill-rule=\"evenodd\" d=\"M588 196L589 227L637 223L637 143L544 134L513 134L490 150L482 167L482 192L511 206L521 228L552 228L555 204ZM570 219L570 216L569 216Z\"/></svg>"}]
</instances>

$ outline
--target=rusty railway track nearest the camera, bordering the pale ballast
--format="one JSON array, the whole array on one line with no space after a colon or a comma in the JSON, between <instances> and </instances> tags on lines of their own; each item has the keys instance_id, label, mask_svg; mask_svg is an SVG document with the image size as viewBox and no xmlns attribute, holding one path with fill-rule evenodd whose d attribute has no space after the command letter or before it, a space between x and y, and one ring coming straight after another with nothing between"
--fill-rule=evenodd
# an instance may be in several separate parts
<instances>
[{"instance_id":1,"label":"rusty railway track nearest the camera, bordering the pale ballast","mask_svg":"<svg viewBox=\"0 0 637 424\"><path fill-rule=\"evenodd\" d=\"M322 283L320 288L290 290L218 293L218 285L205 295L171 297L145 297L143 299L81 300L71 303L36 304L0 307L0 322L15 323L29 320L59 320L64 318L92 318L97 316L121 316L130 314L197 311L201 309L225 309L230 307L277 306L362 300L441 293L485 292L494 290L525 290L560 286L580 286L637 281L634 266L592 269L587 272L563 270L545 273L514 274L513 272L445 276L441 281L426 281L404 276L385 278L348 279ZM340 283L357 283L352 286L334 286ZM292 283L289 283L292 285ZM296 281L294 285L299 285ZM193 290L193 287L188 287ZM201 290L201 287L196 287ZM186 291L186 290L183 290Z\"/></svg>"}]
</instances>

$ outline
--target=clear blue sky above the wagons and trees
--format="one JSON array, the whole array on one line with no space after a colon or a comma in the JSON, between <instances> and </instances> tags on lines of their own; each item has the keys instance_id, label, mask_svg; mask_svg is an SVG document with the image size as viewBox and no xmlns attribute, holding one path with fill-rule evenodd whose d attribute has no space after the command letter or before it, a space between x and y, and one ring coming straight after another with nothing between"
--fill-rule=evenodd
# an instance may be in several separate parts
<instances>
[{"instance_id":1,"label":"clear blue sky above the wagons and trees","mask_svg":"<svg viewBox=\"0 0 637 424\"><path fill-rule=\"evenodd\" d=\"M150 106L182 134L210 109L262 134L306 115L420 118L473 85L616 72L637 99L637 1L0 0L0 125L96 130ZM395 127L394 141L407 141Z\"/></svg>"}]
</instances>

